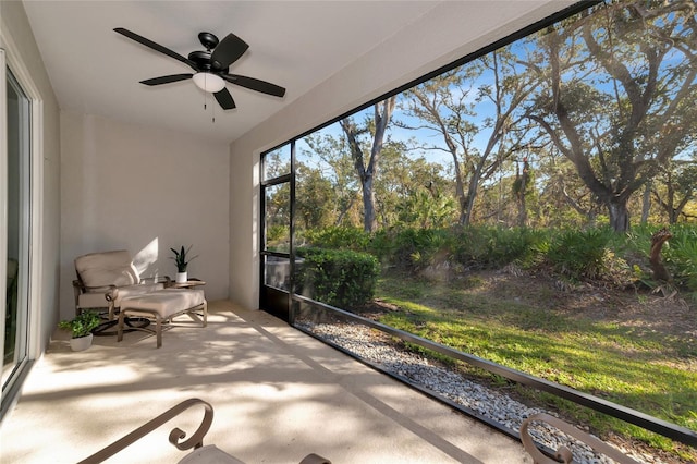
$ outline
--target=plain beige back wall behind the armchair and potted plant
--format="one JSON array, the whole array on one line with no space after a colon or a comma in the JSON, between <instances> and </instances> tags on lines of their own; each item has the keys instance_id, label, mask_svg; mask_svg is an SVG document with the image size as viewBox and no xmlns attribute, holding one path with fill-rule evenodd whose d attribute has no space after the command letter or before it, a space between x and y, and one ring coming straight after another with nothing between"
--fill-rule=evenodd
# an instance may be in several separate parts
<instances>
[{"instance_id":1,"label":"plain beige back wall behind the armchair and potted plant","mask_svg":"<svg viewBox=\"0 0 697 464\"><path fill-rule=\"evenodd\" d=\"M61 308L74 312L75 257L127 249L144 277L174 278L170 247L199 255L188 276L228 298L228 146L106 118L61 113Z\"/></svg>"}]
</instances>

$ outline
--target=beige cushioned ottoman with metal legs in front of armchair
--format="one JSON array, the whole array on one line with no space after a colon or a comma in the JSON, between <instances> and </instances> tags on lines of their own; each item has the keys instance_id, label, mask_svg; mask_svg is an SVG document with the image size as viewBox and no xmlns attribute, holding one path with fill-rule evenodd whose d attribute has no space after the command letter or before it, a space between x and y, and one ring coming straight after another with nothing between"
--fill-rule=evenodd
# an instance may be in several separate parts
<instances>
[{"instance_id":1,"label":"beige cushioned ottoman with metal legs in front of armchair","mask_svg":"<svg viewBox=\"0 0 697 464\"><path fill-rule=\"evenodd\" d=\"M208 323L208 303L203 290L164 289L143 295L127 296L121 300L119 313L118 341L123 340L123 325L127 316L155 319L155 330L147 327L133 327L136 330L155 333L157 347L162 346L162 323L176 316L187 314L200 321L196 312L203 310L201 327Z\"/></svg>"}]
</instances>

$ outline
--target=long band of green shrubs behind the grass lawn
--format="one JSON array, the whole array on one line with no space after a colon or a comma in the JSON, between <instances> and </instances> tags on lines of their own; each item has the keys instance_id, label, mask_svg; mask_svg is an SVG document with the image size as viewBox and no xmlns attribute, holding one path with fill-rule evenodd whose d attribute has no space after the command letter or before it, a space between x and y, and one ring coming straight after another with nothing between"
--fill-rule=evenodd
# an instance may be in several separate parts
<instances>
[{"instance_id":1,"label":"long band of green shrubs behind the grass lawn","mask_svg":"<svg viewBox=\"0 0 697 464\"><path fill-rule=\"evenodd\" d=\"M585 230L456 227L405 228L372 234L358 228L306 231L314 247L368 252L400 271L418 273L445 264L450 269L500 269L514 264L539 266L572 280L602 281L626 288L635 282L655 286L649 266L651 235L657 227L615 233L609 227ZM697 292L697 228L674 225L663 246L663 260L675 285Z\"/></svg>"}]
</instances>

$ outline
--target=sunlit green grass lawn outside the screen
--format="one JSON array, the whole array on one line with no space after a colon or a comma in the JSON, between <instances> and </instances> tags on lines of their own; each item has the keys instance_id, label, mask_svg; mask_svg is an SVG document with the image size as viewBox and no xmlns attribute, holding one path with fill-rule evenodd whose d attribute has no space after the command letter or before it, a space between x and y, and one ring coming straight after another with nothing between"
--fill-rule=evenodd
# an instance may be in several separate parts
<instances>
[{"instance_id":1,"label":"sunlit green grass lawn outside the screen","mask_svg":"<svg viewBox=\"0 0 697 464\"><path fill-rule=\"evenodd\" d=\"M667 323L645 323L641 314L664 310L652 307L658 300L587 292L570 305L568 292L550 285L494 280L492 284L487 277L474 277L437 284L383 276L376 296L400 310L383 313L380 321L697 430L695 333L671 327L670 313ZM626 313L627 301L641 309L639 316ZM697 318L697 309L690 310ZM693 329L697 326L689 322ZM523 390L521 394L530 395ZM614 431L697 460L694 448L546 393L533 396L531 401L560 408L600 436Z\"/></svg>"}]
</instances>

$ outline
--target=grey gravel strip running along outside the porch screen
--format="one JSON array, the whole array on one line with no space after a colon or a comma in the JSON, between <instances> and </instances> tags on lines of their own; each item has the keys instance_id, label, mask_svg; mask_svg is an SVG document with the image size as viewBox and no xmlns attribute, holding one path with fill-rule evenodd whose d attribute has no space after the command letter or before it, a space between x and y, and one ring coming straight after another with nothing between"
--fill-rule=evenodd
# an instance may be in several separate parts
<instances>
[{"instance_id":1,"label":"grey gravel strip running along outside the porch screen","mask_svg":"<svg viewBox=\"0 0 697 464\"><path fill-rule=\"evenodd\" d=\"M461 404L478 415L501 424L510 430L519 430L525 418L541 412L555 415L552 412L528 407L506 394L473 382L460 374L437 365L415 353L409 353L388 342L387 335L358 323L316 323L299 321L296 325L317 337L334 343L354 353L382 369L396 374L415 384L439 393L450 401ZM603 454L596 453L590 447L575 440L549 426L546 423L535 423L530 428L535 440L550 449L557 450L561 445L568 448L574 454L574 463L604 464L614 463ZM615 448L619 448L612 444ZM634 450L619 448L624 454L641 463L660 464L660 459L653 455L637 453Z\"/></svg>"}]
</instances>

